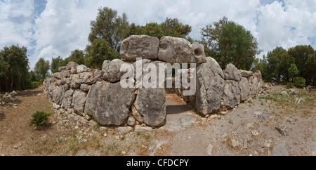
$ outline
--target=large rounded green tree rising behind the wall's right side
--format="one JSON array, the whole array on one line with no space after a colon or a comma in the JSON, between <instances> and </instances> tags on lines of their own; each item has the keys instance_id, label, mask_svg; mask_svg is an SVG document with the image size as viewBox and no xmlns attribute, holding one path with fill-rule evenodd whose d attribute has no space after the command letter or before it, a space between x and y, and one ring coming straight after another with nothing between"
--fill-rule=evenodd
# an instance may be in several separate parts
<instances>
[{"instance_id":1,"label":"large rounded green tree rising behind the wall's right side","mask_svg":"<svg viewBox=\"0 0 316 170\"><path fill-rule=\"evenodd\" d=\"M251 32L226 17L207 25L201 33L206 55L215 58L223 69L232 63L238 69L250 70L261 53Z\"/></svg>"}]
</instances>

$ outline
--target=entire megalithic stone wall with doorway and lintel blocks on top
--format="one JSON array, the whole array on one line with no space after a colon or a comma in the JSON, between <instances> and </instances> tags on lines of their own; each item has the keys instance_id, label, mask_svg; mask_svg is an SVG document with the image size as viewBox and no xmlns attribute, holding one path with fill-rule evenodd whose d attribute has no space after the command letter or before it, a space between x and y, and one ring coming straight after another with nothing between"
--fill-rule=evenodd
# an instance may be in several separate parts
<instances>
[{"instance_id":1,"label":"entire megalithic stone wall with doorway and lintel blocks on top","mask_svg":"<svg viewBox=\"0 0 316 170\"><path fill-rule=\"evenodd\" d=\"M201 44L176 37L157 39L145 35L131 36L121 43L121 60L105 60L102 70L70 62L47 78L43 85L46 96L55 109L76 113L86 119L96 119L104 126L124 126L128 119L138 124L162 126L166 123L166 89L140 88L144 77L136 74L136 58L143 58L142 69L150 63L197 63L196 93L183 96L184 88L176 89L187 103L206 116L227 110L253 98L261 91L261 72L237 70L228 65L222 70L216 60L204 54ZM120 80L126 72L121 65L134 68L133 88L122 88ZM166 72L164 72L165 74ZM147 74L147 72L143 72ZM192 75L191 75L192 76ZM158 79L158 78L157 78ZM133 124L129 124L132 125Z\"/></svg>"}]
</instances>

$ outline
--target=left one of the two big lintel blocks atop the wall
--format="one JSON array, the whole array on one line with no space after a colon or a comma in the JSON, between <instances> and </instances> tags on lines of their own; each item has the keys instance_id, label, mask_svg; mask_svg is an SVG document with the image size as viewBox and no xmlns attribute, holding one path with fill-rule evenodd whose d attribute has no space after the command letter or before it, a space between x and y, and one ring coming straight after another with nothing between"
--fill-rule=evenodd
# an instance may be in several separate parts
<instances>
[{"instance_id":1,"label":"left one of the two big lintel blocks atop the wall","mask_svg":"<svg viewBox=\"0 0 316 170\"><path fill-rule=\"evenodd\" d=\"M136 58L157 60L159 39L147 35L132 35L121 42L122 60L136 61Z\"/></svg>"}]
</instances>

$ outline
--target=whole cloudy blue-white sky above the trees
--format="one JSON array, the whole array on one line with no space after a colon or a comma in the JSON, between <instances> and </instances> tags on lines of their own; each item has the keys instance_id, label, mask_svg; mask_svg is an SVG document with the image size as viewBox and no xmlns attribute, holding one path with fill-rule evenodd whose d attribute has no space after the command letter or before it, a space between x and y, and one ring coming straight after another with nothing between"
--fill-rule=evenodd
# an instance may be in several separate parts
<instances>
[{"instance_id":1,"label":"whole cloudy blue-white sky above the trees","mask_svg":"<svg viewBox=\"0 0 316 170\"><path fill-rule=\"evenodd\" d=\"M316 0L0 0L0 49L27 46L31 69L41 57L67 58L88 44L89 24L101 6L138 25L178 18L198 40L202 27L227 16L257 38L261 56L276 46L316 49Z\"/></svg>"}]
</instances>

